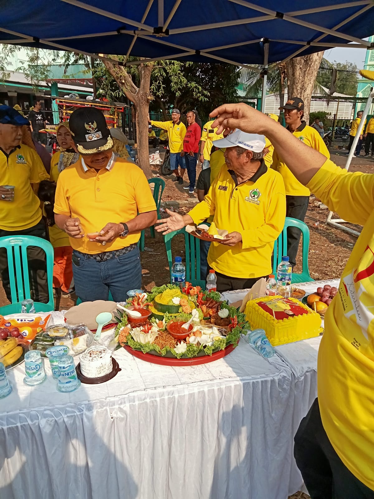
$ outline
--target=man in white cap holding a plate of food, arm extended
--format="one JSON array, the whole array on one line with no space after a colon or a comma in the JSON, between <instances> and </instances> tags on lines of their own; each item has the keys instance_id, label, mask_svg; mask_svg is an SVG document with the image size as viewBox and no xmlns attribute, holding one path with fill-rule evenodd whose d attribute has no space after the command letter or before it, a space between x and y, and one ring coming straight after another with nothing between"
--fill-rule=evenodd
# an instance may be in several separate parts
<instances>
[{"instance_id":1,"label":"man in white cap holding a plate of food, arm extended","mask_svg":"<svg viewBox=\"0 0 374 499\"><path fill-rule=\"evenodd\" d=\"M265 165L265 137L235 130L213 142L226 148L225 165L204 200L187 215L170 212L159 220L163 234L200 224L213 215L217 229L227 230L223 240L213 240L208 251L208 271L217 277L217 291L244 289L271 271L274 241L286 216L286 197L281 175ZM203 277L203 276L202 276Z\"/></svg>"}]
</instances>

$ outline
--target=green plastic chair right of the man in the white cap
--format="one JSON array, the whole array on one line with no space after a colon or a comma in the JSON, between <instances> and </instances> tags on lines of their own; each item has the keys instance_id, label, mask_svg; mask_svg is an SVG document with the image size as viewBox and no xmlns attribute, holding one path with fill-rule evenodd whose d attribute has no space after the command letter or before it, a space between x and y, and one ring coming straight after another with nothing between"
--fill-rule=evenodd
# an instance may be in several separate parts
<instances>
[{"instance_id":1,"label":"green plastic chair right of the man in the white cap","mask_svg":"<svg viewBox=\"0 0 374 499\"><path fill-rule=\"evenodd\" d=\"M298 282L314 281L309 273L308 252L309 252L309 229L308 226L301 220L286 217L284 228L274 243L274 258L273 258L273 274L277 274L277 267L282 260L282 256L287 254L287 228L297 227L303 235L303 269L301 274L292 272L292 284Z\"/></svg>"}]
</instances>

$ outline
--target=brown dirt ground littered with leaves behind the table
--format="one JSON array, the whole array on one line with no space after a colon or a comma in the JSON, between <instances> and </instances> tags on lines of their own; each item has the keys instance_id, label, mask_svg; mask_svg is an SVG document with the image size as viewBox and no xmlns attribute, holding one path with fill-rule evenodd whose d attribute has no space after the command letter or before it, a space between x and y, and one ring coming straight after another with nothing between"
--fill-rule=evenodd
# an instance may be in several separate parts
<instances>
[{"instance_id":1,"label":"brown dirt ground littered with leaves behind the table","mask_svg":"<svg viewBox=\"0 0 374 499\"><path fill-rule=\"evenodd\" d=\"M344 166L346 163L346 151L330 151L331 159L339 166ZM161 151L161 157L164 152ZM201 167L197 166L197 176L201 171ZM374 171L374 159L354 158L350 167L350 171L360 171L372 173ZM155 176L160 175L160 167L155 166L153 169ZM185 173L185 184L180 186L173 182L174 175L163 177L166 182L166 187L163 193L163 201L188 200L197 199L196 192L189 194L183 187L187 184L187 173ZM311 196L309 209L305 218L305 222L310 231L310 246L309 246L309 270L311 276L317 279L337 278L340 277L342 270L348 260L351 250L356 242L356 237L348 233L335 229L325 224L328 209L319 207L319 200ZM180 213L187 213L187 208L176 209ZM165 213L162 215L166 216ZM338 217L336 215L336 217ZM143 285L146 289L151 289L155 284L161 285L168 282L170 279L169 265L165 246L162 236L156 233L156 238L151 238L150 231L146 231L145 251L141 255L143 267ZM176 237L172 242L173 255L185 256L185 244L182 236ZM301 263L301 248L299 251L298 265ZM75 295L71 298L58 297L56 299L56 309L70 308L75 304ZM0 306L7 304L2 287L0 288Z\"/></svg>"}]
</instances>

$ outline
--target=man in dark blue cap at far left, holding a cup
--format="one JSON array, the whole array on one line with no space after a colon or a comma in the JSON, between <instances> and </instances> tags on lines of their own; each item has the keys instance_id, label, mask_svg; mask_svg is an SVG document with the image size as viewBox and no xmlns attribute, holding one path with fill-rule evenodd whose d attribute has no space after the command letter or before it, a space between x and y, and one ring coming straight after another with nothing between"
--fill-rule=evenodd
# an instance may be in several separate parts
<instances>
[{"instance_id":1,"label":"man in dark blue cap at far left, holding a cup","mask_svg":"<svg viewBox=\"0 0 374 499\"><path fill-rule=\"evenodd\" d=\"M0 237L35 236L47 239L40 202L34 194L41 180L49 179L36 151L20 144L21 127L28 120L9 106L0 106ZM45 253L27 249L30 291L34 301L47 303ZM11 301L6 250L0 250L0 273L6 297Z\"/></svg>"}]
</instances>

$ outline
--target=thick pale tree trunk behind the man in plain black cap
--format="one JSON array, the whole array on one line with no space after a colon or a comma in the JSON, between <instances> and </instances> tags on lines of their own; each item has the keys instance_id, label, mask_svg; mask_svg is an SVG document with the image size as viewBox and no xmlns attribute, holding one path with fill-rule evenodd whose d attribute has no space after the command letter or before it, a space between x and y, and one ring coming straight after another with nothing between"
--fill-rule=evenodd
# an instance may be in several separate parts
<instances>
[{"instance_id":1,"label":"thick pale tree trunk behind the man in plain black cap","mask_svg":"<svg viewBox=\"0 0 374 499\"><path fill-rule=\"evenodd\" d=\"M286 62L288 98L300 97L304 101L304 117L309 125L309 109L313 86L323 52L295 57Z\"/></svg>"}]
</instances>

